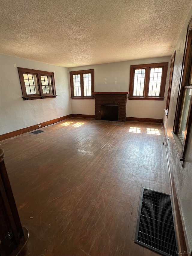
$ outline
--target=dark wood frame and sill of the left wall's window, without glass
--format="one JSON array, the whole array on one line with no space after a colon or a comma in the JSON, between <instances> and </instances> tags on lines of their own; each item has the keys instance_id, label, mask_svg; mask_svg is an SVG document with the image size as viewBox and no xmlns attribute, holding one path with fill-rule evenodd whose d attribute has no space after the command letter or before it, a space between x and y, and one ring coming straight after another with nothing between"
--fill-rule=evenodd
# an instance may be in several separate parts
<instances>
[{"instance_id":1,"label":"dark wood frame and sill of the left wall's window, without glass","mask_svg":"<svg viewBox=\"0 0 192 256\"><path fill-rule=\"evenodd\" d=\"M23 100L35 100L35 99L43 99L43 98L55 98L58 95L56 95L55 91L55 79L54 79L54 73L47 72L47 71L41 71L41 70L35 70L35 69L29 69L29 68L18 68L19 72L19 79L21 83L21 89L22 89L22 95ZM24 81L23 74L32 74L36 75L37 77L37 86L38 86L38 94L27 94L26 91L26 85ZM41 75L49 76L51 77L51 88L52 93L44 93L42 89L42 82L41 82Z\"/></svg>"}]
</instances>

